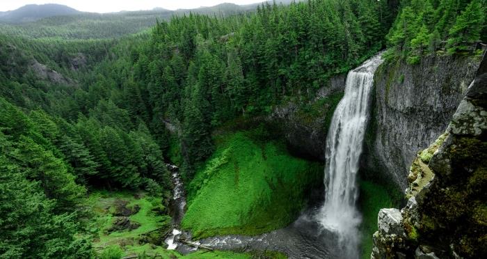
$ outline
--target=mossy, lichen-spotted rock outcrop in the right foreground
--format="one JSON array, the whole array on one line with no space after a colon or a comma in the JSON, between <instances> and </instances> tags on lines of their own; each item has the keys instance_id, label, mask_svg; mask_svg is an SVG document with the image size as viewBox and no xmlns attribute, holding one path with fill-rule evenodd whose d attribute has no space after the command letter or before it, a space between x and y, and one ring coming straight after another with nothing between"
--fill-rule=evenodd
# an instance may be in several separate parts
<instances>
[{"instance_id":1,"label":"mossy, lichen-spotted rock outcrop in the right foreground","mask_svg":"<svg viewBox=\"0 0 487 259\"><path fill-rule=\"evenodd\" d=\"M487 258L485 55L447 131L417 154L408 182L400 217L379 212L372 258Z\"/></svg>"}]
</instances>

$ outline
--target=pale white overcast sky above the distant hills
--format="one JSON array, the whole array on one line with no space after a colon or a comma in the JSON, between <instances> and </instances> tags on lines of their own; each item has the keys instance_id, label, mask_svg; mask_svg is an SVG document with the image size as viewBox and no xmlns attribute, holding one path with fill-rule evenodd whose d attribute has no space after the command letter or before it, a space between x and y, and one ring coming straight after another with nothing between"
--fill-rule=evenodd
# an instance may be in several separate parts
<instances>
[{"instance_id":1,"label":"pale white overcast sky above the distant hills","mask_svg":"<svg viewBox=\"0 0 487 259\"><path fill-rule=\"evenodd\" d=\"M259 3L264 0L0 0L0 11L15 10L31 3L59 3L84 12L110 13L120 10L150 10L162 7L170 10L215 6L218 3Z\"/></svg>"}]
</instances>

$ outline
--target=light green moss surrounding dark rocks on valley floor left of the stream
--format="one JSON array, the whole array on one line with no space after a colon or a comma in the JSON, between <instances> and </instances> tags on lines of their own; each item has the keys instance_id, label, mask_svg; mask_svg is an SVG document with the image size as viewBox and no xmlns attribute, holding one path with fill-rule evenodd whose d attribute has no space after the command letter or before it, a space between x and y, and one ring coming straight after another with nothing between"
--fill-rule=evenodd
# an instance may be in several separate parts
<instances>
[{"instance_id":1,"label":"light green moss surrounding dark rocks on valley floor left of the stream","mask_svg":"<svg viewBox=\"0 0 487 259\"><path fill-rule=\"evenodd\" d=\"M137 197L137 198L136 198ZM127 207L138 205L141 209L129 217L131 221L140 223L141 226L134 230L123 230L106 234L106 229L111 228L118 200L127 201ZM151 230L170 227L170 217L157 214L152 211L158 207L161 198L146 196L144 193L129 191L95 191L85 202L85 207L91 212L93 221L93 233L95 240L93 246L99 252L101 258L122 258L123 256L138 256L139 258L251 258L249 253L234 253L231 251L198 251L187 256L182 256L177 251L164 249L154 244L141 242L143 234ZM162 231L164 232L164 231ZM153 232L157 233L157 232Z\"/></svg>"}]
</instances>

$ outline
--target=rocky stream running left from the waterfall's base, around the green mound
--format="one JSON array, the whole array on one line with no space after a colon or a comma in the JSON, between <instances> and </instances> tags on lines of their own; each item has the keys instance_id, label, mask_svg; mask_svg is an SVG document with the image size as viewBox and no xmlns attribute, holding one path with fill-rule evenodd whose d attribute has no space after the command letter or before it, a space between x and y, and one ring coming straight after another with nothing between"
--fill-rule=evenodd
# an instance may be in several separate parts
<instances>
[{"instance_id":1,"label":"rocky stream running left from the waterfall's base, around the green mound","mask_svg":"<svg viewBox=\"0 0 487 259\"><path fill-rule=\"evenodd\" d=\"M184 186L179 177L179 168L170 164L166 166L171 173L174 185L171 207L173 207L173 225L175 226L171 234L166 237L167 249L176 250L182 254L192 253L197 249L177 242L180 237L191 240L191 233L178 229L186 207ZM314 208L304 212L291 225L270 233L256 236L225 235L208 237L198 240L195 244L209 246L216 250L280 251L287 254L289 258L343 258L341 256L343 252L337 249L339 242L337 235L323 228L314 219L313 215L317 214L317 211L318 208Z\"/></svg>"}]
</instances>

